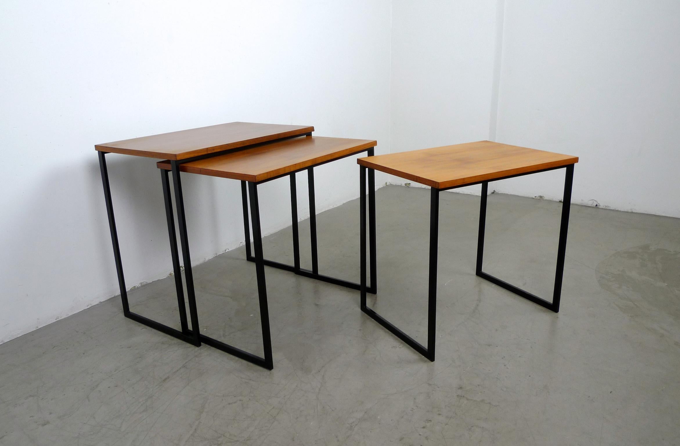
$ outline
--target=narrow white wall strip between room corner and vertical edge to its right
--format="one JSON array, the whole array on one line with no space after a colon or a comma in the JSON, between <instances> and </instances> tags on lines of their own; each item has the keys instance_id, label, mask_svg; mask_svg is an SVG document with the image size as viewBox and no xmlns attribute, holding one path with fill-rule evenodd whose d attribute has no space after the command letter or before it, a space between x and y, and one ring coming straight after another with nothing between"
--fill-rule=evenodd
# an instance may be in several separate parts
<instances>
[{"instance_id":1,"label":"narrow white wall strip between room corner and vertical edge to its right","mask_svg":"<svg viewBox=\"0 0 680 446\"><path fill-rule=\"evenodd\" d=\"M392 2L392 152L488 139L495 38L496 0Z\"/></svg>"}]
</instances>

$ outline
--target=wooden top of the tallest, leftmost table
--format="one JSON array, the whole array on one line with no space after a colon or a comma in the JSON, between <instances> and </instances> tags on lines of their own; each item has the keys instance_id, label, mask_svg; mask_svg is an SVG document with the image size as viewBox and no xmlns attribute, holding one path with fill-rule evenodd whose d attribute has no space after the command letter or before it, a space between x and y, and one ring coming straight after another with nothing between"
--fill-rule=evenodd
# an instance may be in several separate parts
<instances>
[{"instance_id":1,"label":"wooden top of the tallest, leftmost table","mask_svg":"<svg viewBox=\"0 0 680 446\"><path fill-rule=\"evenodd\" d=\"M228 122L97 144L95 150L149 158L184 160L194 156L241 148L245 145L304 135L313 131L313 126Z\"/></svg>"}]
</instances>

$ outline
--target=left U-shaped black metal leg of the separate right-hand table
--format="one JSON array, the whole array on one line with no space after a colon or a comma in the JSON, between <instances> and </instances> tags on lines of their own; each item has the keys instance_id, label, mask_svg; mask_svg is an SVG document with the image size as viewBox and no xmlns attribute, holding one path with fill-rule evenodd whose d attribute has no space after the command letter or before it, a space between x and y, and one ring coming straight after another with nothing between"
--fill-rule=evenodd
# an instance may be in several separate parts
<instances>
[{"instance_id":1,"label":"left U-shaped black metal leg of the separate right-hand table","mask_svg":"<svg viewBox=\"0 0 680 446\"><path fill-rule=\"evenodd\" d=\"M430 269L428 277L428 346L420 344L391 322L366 305L366 167L360 166L360 307L375 322L404 341L418 353L435 360L435 333L437 322L437 241L439 239L439 189L432 188L430 195ZM369 175L371 173L369 169ZM370 176L369 176L370 177ZM370 188L369 188L370 192Z\"/></svg>"}]
</instances>

